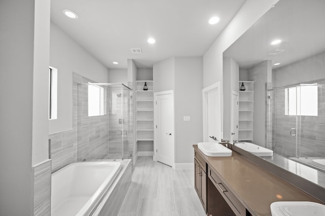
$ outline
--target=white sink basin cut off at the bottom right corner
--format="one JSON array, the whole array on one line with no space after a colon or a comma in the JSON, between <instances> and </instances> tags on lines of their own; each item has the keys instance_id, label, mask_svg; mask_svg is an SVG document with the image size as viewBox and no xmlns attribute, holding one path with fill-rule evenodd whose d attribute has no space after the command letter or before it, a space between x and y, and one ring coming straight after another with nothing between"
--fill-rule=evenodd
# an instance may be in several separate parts
<instances>
[{"instance_id":1,"label":"white sink basin cut off at the bottom right corner","mask_svg":"<svg viewBox=\"0 0 325 216\"><path fill-rule=\"evenodd\" d=\"M272 216L323 216L325 205L316 202L282 201L271 204Z\"/></svg>"}]
</instances>

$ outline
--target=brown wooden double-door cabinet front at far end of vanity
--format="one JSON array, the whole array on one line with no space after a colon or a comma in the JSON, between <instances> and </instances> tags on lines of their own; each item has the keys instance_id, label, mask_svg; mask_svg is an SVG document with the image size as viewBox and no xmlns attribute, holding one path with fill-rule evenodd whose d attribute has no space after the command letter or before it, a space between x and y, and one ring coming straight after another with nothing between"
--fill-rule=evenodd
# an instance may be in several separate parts
<instances>
[{"instance_id":1,"label":"brown wooden double-door cabinet front at far end of vanity","mask_svg":"<svg viewBox=\"0 0 325 216\"><path fill-rule=\"evenodd\" d=\"M194 188L207 211L207 172L206 162L195 152L194 157Z\"/></svg>"}]
</instances>

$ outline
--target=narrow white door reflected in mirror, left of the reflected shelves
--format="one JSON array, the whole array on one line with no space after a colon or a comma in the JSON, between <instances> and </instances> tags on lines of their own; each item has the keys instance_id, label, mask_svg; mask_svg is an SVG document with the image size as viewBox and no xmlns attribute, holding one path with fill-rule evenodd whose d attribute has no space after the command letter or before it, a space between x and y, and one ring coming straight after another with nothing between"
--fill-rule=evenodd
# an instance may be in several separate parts
<instances>
[{"instance_id":1,"label":"narrow white door reflected in mirror, left of the reflected shelves","mask_svg":"<svg viewBox=\"0 0 325 216\"><path fill-rule=\"evenodd\" d=\"M237 140L238 139L238 99L239 95L238 92L233 91L232 92L232 107L231 107L231 140Z\"/></svg>"}]
</instances>

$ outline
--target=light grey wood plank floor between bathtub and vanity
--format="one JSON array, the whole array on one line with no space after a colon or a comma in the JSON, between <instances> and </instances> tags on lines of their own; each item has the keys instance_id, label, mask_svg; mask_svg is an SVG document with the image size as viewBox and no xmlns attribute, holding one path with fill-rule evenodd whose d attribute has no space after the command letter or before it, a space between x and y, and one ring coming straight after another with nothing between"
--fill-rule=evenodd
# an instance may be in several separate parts
<instances>
[{"instance_id":1,"label":"light grey wood plank floor between bathtub and vanity","mask_svg":"<svg viewBox=\"0 0 325 216\"><path fill-rule=\"evenodd\" d=\"M205 216L193 178L193 169L139 157L118 216Z\"/></svg>"}]
</instances>

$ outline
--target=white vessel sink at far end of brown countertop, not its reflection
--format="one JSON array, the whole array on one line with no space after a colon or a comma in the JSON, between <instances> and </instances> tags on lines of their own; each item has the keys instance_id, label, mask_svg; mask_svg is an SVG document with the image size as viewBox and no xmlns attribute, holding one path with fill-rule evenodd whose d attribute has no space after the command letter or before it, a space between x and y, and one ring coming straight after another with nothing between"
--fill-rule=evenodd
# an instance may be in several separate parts
<instances>
[{"instance_id":1,"label":"white vessel sink at far end of brown countertop, not its reflection","mask_svg":"<svg viewBox=\"0 0 325 216\"><path fill-rule=\"evenodd\" d=\"M210 157L230 157L232 151L216 142L199 142L199 149Z\"/></svg>"}]
</instances>

